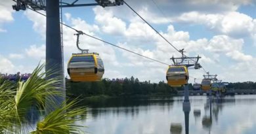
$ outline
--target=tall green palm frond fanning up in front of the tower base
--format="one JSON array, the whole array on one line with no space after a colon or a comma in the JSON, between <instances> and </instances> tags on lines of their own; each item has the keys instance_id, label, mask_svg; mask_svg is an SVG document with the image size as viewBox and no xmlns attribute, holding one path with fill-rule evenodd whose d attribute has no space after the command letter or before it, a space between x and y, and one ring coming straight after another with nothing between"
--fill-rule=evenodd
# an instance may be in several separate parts
<instances>
[{"instance_id":1,"label":"tall green palm frond fanning up in front of the tower base","mask_svg":"<svg viewBox=\"0 0 256 134\"><path fill-rule=\"evenodd\" d=\"M44 67L44 64L38 65L26 82L18 82L14 109L19 118L24 117L32 105L36 105L39 109L44 108L47 96L60 95L57 90L60 79L45 79L46 72L42 71Z\"/></svg>"}]
</instances>

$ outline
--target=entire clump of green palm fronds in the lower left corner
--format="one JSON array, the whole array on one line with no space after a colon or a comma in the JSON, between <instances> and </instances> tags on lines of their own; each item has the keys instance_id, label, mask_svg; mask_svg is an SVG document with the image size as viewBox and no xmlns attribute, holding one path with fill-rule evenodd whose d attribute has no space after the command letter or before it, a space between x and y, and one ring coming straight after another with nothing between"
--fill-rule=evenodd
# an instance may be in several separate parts
<instances>
[{"instance_id":1,"label":"entire clump of green palm fronds in the lower left corner","mask_svg":"<svg viewBox=\"0 0 256 134\"><path fill-rule=\"evenodd\" d=\"M60 92L61 78L58 71L43 72L45 65L38 65L26 82L17 84L0 78L0 133L21 133L22 124L26 123L26 115L35 106L38 110L45 109L46 98L62 95ZM48 76L46 79L45 76ZM54 105L54 100L47 100ZM85 115L86 108L74 107L77 101L66 101L53 112L37 123L32 133L79 133L82 126L75 125Z\"/></svg>"}]
</instances>

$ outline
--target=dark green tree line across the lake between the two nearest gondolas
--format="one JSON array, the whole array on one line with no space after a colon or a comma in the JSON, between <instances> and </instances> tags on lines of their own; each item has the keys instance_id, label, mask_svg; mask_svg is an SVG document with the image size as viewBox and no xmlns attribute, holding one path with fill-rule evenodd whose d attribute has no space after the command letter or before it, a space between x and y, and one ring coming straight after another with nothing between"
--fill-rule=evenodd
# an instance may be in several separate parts
<instances>
[{"instance_id":1,"label":"dark green tree line across the lake between the two nearest gondolas","mask_svg":"<svg viewBox=\"0 0 256 134\"><path fill-rule=\"evenodd\" d=\"M67 95L72 97L89 97L94 95L108 95L113 97L135 95L171 95L177 89L171 88L166 82L140 82L138 78L124 78L123 80L103 79L99 82L71 82L66 79ZM178 89L179 90L179 89Z\"/></svg>"}]
</instances>

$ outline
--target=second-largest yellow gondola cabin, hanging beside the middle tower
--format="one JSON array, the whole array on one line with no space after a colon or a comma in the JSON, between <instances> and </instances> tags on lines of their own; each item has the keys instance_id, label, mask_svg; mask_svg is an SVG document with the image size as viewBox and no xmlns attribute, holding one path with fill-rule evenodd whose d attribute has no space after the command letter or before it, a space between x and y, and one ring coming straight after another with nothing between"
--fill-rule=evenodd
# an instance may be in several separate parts
<instances>
[{"instance_id":1,"label":"second-largest yellow gondola cabin, hanging beside the middle tower","mask_svg":"<svg viewBox=\"0 0 256 134\"><path fill-rule=\"evenodd\" d=\"M166 73L169 86L180 87L188 84L188 69L185 66L169 65Z\"/></svg>"}]
</instances>

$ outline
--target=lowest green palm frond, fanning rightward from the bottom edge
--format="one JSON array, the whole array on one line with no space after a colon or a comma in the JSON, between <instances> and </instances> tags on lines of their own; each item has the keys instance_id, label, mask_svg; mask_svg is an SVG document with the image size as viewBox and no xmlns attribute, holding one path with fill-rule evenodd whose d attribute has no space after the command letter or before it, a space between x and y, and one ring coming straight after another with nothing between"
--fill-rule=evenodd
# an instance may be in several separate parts
<instances>
[{"instance_id":1,"label":"lowest green palm frond, fanning rightward from the bottom edge","mask_svg":"<svg viewBox=\"0 0 256 134\"><path fill-rule=\"evenodd\" d=\"M61 107L48 114L32 134L80 133L79 129L85 126L75 125L86 114L86 107L75 107L78 101L64 102Z\"/></svg>"}]
</instances>

